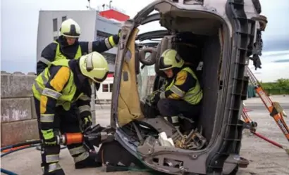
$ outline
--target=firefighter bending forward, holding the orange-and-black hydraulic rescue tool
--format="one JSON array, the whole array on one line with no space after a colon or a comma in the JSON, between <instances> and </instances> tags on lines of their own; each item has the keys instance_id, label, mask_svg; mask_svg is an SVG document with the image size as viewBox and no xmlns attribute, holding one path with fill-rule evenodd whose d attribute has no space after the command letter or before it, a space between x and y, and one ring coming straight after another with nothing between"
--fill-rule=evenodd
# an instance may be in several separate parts
<instances>
[{"instance_id":1,"label":"firefighter bending forward, holding the orange-and-black hydraulic rescue tool","mask_svg":"<svg viewBox=\"0 0 289 175\"><path fill-rule=\"evenodd\" d=\"M79 133L92 125L91 85L102 83L108 73L106 59L100 53L92 52L78 60L56 60L35 79L32 91L39 136L43 141L41 165L44 175L65 174L59 165L60 145L56 144L56 134ZM72 103L80 109L80 119L65 113ZM67 147L74 159L75 169L99 167L95 155L92 156L83 143Z\"/></svg>"}]
</instances>

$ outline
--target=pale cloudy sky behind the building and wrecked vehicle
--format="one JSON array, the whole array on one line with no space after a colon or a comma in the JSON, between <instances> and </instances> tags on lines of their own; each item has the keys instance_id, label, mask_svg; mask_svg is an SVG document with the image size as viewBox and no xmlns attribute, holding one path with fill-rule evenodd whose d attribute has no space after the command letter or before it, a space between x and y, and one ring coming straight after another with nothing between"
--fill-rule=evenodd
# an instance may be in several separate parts
<instances>
[{"instance_id":1,"label":"pale cloudy sky behind the building and wrecked vehicle","mask_svg":"<svg viewBox=\"0 0 289 175\"><path fill-rule=\"evenodd\" d=\"M112 6L133 17L152 1L113 0ZM91 0L91 7L108 3L109 0ZM85 0L1 0L1 70L35 72L39 10L86 10L87 4ZM269 23L262 34L263 68L253 72L263 82L289 78L289 23L285 22L289 16L289 1L261 0L261 4L262 14ZM152 22L140 27L140 33L156 27L159 27L157 22Z\"/></svg>"}]
</instances>

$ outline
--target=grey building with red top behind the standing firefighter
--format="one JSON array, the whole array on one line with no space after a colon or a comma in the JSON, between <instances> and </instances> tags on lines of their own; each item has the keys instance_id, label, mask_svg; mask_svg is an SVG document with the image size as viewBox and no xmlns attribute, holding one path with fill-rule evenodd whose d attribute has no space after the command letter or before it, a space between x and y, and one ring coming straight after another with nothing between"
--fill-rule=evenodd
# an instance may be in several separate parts
<instances>
[{"instance_id":1,"label":"grey building with red top behind the standing firefighter","mask_svg":"<svg viewBox=\"0 0 289 175\"><path fill-rule=\"evenodd\" d=\"M106 11L96 11L94 9L87 11L39 11L37 60L41 57L43 48L59 36L61 23L68 18L72 18L80 25L79 41L96 41L117 34L121 28L121 23L130 17L116 11L116 9ZM111 48L109 51L102 53L109 63L111 73L114 72L116 51L117 48ZM97 93L97 98L100 101L111 100L112 82L113 74L110 74Z\"/></svg>"}]
</instances>

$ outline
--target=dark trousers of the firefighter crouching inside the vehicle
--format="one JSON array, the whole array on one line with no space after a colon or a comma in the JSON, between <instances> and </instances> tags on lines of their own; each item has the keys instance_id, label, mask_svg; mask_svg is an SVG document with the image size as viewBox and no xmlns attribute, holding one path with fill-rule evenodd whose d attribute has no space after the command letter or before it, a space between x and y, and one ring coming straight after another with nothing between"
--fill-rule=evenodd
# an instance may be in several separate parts
<instances>
[{"instance_id":1,"label":"dark trousers of the firefighter crouching inside the vehicle","mask_svg":"<svg viewBox=\"0 0 289 175\"><path fill-rule=\"evenodd\" d=\"M159 113L164 119L171 122L177 129L182 125L184 130L190 129L191 126L188 124L188 121L182 119L180 121L180 115L183 115L191 122L197 122L197 116L199 115L200 105L191 105L183 100L173 100L170 98L160 99L157 103Z\"/></svg>"}]
</instances>

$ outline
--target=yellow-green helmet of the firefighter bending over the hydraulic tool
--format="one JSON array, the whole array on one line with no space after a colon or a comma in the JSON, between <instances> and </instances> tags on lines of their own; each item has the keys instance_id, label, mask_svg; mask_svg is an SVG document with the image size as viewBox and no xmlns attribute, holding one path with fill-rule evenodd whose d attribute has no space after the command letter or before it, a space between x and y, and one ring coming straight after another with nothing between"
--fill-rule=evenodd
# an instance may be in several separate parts
<instances>
[{"instance_id":1,"label":"yellow-green helmet of the firefighter bending over the hydraulic tool","mask_svg":"<svg viewBox=\"0 0 289 175\"><path fill-rule=\"evenodd\" d=\"M102 54L92 52L80 57L80 71L93 82L102 83L109 74L109 64Z\"/></svg>"}]
</instances>

